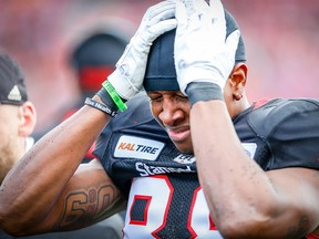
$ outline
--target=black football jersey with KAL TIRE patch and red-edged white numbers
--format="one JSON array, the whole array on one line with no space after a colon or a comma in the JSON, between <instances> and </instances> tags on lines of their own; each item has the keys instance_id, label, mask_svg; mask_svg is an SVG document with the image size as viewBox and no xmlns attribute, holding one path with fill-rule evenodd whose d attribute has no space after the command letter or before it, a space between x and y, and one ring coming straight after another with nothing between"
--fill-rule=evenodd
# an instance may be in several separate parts
<instances>
[{"instance_id":1,"label":"black football jersey with KAL TIRE patch and red-edged white numbers","mask_svg":"<svg viewBox=\"0 0 319 239\"><path fill-rule=\"evenodd\" d=\"M233 122L243 148L264 170L319 169L319 103L272 100ZM128 198L125 237L222 238L197 178L193 155L179 153L153 118L144 93L103 131L94 154Z\"/></svg>"}]
</instances>

